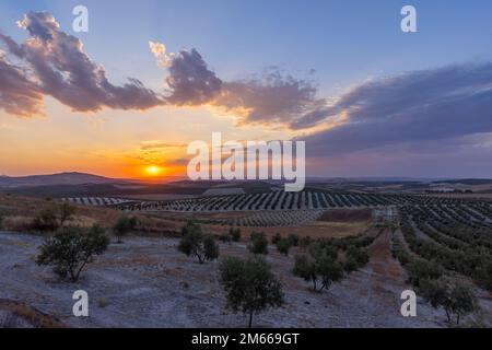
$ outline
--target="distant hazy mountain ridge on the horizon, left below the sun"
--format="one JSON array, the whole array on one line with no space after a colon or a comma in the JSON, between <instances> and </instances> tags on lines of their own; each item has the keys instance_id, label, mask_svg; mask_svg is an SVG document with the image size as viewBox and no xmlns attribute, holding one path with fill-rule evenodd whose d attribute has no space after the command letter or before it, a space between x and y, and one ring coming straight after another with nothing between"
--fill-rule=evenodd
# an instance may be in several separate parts
<instances>
[{"instance_id":1,"label":"distant hazy mountain ridge on the horizon, left below the sun","mask_svg":"<svg viewBox=\"0 0 492 350\"><path fill-rule=\"evenodd\" d=\"M0 187L110 184L118 182L125 180L77 172L50 175L0 176Z\"/></svg>"}]
</instances>

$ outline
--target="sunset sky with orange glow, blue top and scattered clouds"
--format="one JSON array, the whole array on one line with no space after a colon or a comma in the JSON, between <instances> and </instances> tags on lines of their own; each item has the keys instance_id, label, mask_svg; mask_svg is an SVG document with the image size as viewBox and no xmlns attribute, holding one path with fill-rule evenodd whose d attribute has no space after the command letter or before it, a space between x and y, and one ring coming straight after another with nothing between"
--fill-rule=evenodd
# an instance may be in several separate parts
<instances>
[{"instance_id":1,"label":"sunset sky with orange glow, blue top and scattered clouds","mask_svg":"<svg viewBox=\"0 0 492 350\"><path fill-rule=\"evenodd\" d=\"M0 174L183 175L221 131L305 141L308 176L492 177L491 20L488 0L2 1Z\"/></svg>"}]
</instances>

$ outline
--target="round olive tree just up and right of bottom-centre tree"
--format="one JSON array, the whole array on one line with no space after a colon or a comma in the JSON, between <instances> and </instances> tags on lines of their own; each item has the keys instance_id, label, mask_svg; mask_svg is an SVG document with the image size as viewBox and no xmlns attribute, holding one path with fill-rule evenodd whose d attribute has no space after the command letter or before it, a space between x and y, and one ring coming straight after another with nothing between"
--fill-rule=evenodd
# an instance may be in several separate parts
<instances>
[{"instance_id":1,"label":"round olive tree just up and right of bottom-centre tree","mask_svg":"<svg viewBox=\"0 0 492 350\"><path fill-rule=\"evenodd\" d=\"M312 244L307 254L295 257L292 272L312 282L314 291L321 292L343 278L343 268L337 257L338 252L333 247Z\"/></svg>"}]
</instances>

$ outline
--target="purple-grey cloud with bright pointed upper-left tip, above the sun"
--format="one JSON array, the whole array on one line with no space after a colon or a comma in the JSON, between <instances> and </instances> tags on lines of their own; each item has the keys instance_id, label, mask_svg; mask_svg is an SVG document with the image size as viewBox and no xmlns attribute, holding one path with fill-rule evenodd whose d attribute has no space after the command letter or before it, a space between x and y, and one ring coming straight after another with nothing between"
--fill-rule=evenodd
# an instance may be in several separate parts
<instances>
[{"instance_id":1,"label":"purple-grey cloud with bright pointed upper-left tip, above the sun","mask_svg":"<svg viewBox=\"0 0 492 350\"><path fill-rule=\"evenodd\" d=\"M270 70L261 78L223 81L196 49L167 54L164 44L149 42L149 46L159 66L168 70L168 104L209 105L235 114L242 125L283 124L291 128L297 126L297 119L326 104L316 98L317 89L311 82L279 70Z\"/></svg>"}]
</instances>

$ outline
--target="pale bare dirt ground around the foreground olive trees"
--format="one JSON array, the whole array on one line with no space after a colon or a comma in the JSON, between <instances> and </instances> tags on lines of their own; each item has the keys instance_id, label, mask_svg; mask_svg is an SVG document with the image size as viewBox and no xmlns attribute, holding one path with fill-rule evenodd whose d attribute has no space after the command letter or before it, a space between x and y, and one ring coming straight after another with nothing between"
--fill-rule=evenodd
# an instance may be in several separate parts
<instances>
[{"instance_id":1,"label":"pale bare dirt ground around the foreground olive trees","mask_svg":"<svg viewBox=\"0 0 492 350\"><path fill-rule=\"evenodd\" d=\"M112 244L78 283L61 282L49 267L35 265L42 242L39 236L0 233L0 311L1 301L16 301L69 327L247 325L246 316L224 310L218 262L197 264L177 252L175 238L128 237L125 244ZM389 244L389 233L380 235L370 247L368 266L321 294L292 276L293 254L284 257L270 247L268 260L284 284L285 305L255 316L255 326L445 327L443 312L420 301L418 317L400 315L399 296L409 287ZM221 244L222 255L246 252L244 243ZM79 289L89 292L90 317L71 314L72 293Z\"/></svg>"}]
</instances>

